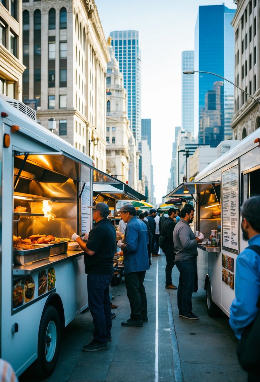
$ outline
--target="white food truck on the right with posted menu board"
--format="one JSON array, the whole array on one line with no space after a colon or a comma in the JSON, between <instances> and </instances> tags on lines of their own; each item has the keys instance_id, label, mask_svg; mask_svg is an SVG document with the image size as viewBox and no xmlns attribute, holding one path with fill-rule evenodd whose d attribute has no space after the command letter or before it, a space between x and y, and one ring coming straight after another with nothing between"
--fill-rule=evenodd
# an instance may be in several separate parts
<instances>
[{"instance_id":1,"label":"white food truck on the right with posted menu board","mask_svg":"<svg viewBox=\"0 0 260 382\"><path fill-rule=\"evenodd\" d=\"M198 285L206 290L210 317L222 311L229 316L235 298L236 258L248 245L242 240L240 207L260 195L258 142L260 129L202 170L194 182L182 183L166 196L186 197L185 191L194 198L194 230L204 234L205 243L198 245ZM207 242L212 230L220 239L217 246Z\"/></svg>"}]
</instances>

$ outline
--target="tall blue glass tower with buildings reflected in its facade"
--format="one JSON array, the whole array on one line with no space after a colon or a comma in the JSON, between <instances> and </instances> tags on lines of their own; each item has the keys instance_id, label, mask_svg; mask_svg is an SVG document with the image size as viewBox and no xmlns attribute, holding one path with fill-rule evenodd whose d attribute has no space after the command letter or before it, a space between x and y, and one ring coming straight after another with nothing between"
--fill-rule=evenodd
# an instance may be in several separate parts
<instances>
[{"instance_id":1,"label":"tall blue glass tower with buildings reflected in its facade","mask_svg":"<svg viewBox=\"0 0 260 382\"><path fill-rule=\"evenodd\" d=\"M194 70L209 71L234 82L235 9L199 6L195 27ZM232 138L234 86L206 73L194 74L194 122L199 144L216 147Z\"/></svg>"}]
</instances>

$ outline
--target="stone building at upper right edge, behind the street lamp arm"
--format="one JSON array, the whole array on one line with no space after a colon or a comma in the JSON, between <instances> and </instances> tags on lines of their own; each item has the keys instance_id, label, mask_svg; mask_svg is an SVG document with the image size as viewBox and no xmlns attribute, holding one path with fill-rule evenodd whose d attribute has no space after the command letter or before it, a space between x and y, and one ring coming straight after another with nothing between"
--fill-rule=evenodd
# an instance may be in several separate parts
<instances>
[{"instance_id":1,"label":"stone building at upper right edge, behind the street lamp arm","mask_svg":"<svg viewBox=\"0 0 260 382\"><path fill-rule=\"evenodd\" d=\"M260 0L237 0L232 26L235 35L235 84L260 97ZM260 127L260 104L234 90L233 138L243 139Z\"/></svg>"}]
</instances>

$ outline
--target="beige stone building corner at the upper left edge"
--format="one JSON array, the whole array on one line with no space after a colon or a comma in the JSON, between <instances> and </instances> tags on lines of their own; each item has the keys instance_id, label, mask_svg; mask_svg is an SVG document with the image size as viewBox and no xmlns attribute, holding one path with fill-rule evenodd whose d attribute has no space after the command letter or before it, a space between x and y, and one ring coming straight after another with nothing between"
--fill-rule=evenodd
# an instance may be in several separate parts
<instances>
[{"instance_id":1,"label":"beige stone building corner at the upper left edge","mask_svg":"<svg viewBox=\"0 0 260 382\"><path fill-rule=\"evenodd\" d=\"M0 2L0 93L22 100L22 0Z\"/></svg>"}]
</instances>

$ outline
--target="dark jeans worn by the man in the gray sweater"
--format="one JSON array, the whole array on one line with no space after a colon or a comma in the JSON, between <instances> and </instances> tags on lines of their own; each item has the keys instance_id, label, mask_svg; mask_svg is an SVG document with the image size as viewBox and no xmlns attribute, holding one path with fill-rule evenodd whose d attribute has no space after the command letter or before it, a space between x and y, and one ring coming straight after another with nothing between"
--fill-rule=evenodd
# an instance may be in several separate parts
<instances>
[{"instance_id":1,"label":"dark jeans worn by the man in the gray sweater","mask_svg":"<svg viewBox=\"0 0 260 382\"><path fill-rule=\"evenodd\" d=\"M177 304L179 311L188 313L192 311L191 295L194 291L197 274L196 259L175 261L180 272L177 291Z\"/></svg>"}]
</instances>

